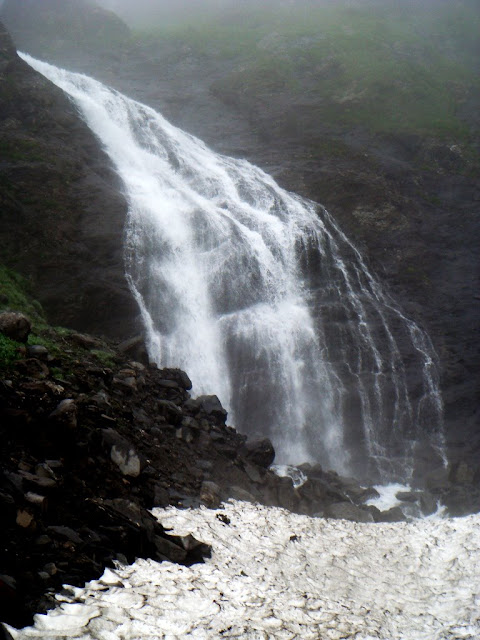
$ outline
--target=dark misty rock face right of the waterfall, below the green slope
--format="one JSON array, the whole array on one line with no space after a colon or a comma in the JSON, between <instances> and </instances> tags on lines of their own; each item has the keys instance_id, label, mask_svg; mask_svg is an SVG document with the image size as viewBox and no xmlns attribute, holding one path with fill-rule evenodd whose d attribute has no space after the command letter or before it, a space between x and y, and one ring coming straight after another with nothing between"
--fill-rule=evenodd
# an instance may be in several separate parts
<instances>
[{"instance_id":1,"label":"dark misty rock face right of the waterfall, below the green slope","mask_svg":"<svg viewBox=\"0 0 480 640\"><path fill-rule=\"evenodd\" d=\"M372 133L351 119L332 127L321 96L307 90L308 65L300 77L307 84L292 92L278 73L262 77L261 69L242 66L235 56L199 51L181 38L145 46L119 37L107 56L83 46L83 36L74 45L60 39L47 46L41 34L45 23L51 29L53 10L46 9L54 0L36 12L28 4L28 14L20 11L25 3L7 0L3 10L20 47L151 104L217 150L253 160L334 213L407 314L429 330L442 366L450 455L474 460L480 447L475 87L457 101L471 132L468 144L455 132ZM275 34L252 47L288 61L288 47ZM395 53L398 60L404 54ZM318 70L327 80L328 72L328 64ZM347 89L333 105L343 115L365 107L358 92Z\"/></svg>"}]
</instances>

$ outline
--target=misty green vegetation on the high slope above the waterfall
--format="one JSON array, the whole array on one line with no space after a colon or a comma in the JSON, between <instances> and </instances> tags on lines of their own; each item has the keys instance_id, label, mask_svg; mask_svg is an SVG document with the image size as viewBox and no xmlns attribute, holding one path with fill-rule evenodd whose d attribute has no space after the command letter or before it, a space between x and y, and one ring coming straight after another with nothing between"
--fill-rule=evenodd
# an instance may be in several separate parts
<instances>
[{"instance_id":1,"label":"misty green vegetation on the high slope above the waterfall","mask_svg":"<svg viewBox=\"0 0 480 640\"><path fill-rule=\"evenodd\" d=\"M480 12L474 3L362 6L295 3L192 14L137 34L178 55L230 61L217 92L251 99L288 92L326 123L372 133L468 140L457 115L478 76Z\"/></svg>"}]
</instances>

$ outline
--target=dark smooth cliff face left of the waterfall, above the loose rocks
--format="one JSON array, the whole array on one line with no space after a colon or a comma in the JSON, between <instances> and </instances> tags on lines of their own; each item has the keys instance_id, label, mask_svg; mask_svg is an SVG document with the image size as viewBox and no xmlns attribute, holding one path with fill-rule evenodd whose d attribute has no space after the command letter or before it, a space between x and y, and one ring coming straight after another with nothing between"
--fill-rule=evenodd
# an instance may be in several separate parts
<instances>
[{"instance_id":1,"label":"dark smooth cliff face left of the waterfall, above the loose rocks","mask_svg":"<svg viewBox=\"0 0 480 640\"><path fill-rule=\"evenodd\" d=\"M110 163L63 93L0 26L0 263L31 280L52 323L134 331L123 272L127 204Z\"/></svg>"}]
</instances>

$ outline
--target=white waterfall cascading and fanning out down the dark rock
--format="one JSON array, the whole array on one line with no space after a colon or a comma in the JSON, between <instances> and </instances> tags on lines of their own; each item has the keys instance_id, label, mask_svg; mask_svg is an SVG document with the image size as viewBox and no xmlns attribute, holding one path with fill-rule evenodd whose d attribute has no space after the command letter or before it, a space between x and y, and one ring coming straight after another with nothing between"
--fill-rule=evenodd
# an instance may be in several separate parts
<instances>
[{"instance_id":1,"label":"white waterfall cascading and fanning out down the dark rock","mask_svg":"<svg viewBox=\"0 0 480 640\"><path fill-rule=\"evenodd\" d=\"M127 275L152 359L216 393L283 462L392 480L427 440L443 456L429 338L327 211L153 109L23 57L72 98L123 179Z\"/></svg>"}]
</instances>

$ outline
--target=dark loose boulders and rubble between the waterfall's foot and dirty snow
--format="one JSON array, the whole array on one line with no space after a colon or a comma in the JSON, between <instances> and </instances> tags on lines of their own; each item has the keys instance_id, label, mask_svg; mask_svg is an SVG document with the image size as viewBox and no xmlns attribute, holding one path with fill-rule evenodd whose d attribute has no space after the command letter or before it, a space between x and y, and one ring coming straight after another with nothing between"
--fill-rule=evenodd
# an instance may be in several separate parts
<instances>
[{"instance_id":1,"label":"dark loose boulders and rubble between the waterfall's foot and dirty snow","mask_svg":"<svg viewBox=\"0 0 480 640\"><path fill-rule=\"evenodd\" d=\"M438 499L453 515L480 509L465 465L398 494L403 510L366 506L375 489L319 465L303 465L294 485L268 468L270 441L247 441L216 396L190 388L183 371L148 363L140 338L115 346L41 315L31 331L24 314L0 312L0 621L30 623L63 584L115 562L200 562L208 548L169 536L154 506L235 498L372 524L431 514Z\"/></svg>"}]
</instances>

